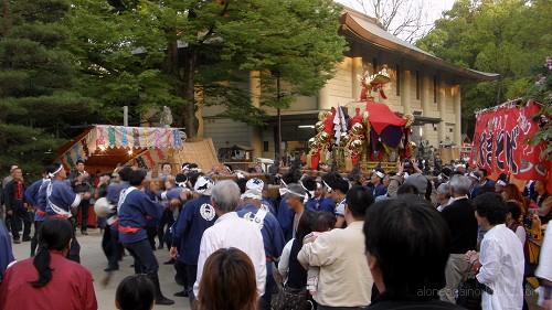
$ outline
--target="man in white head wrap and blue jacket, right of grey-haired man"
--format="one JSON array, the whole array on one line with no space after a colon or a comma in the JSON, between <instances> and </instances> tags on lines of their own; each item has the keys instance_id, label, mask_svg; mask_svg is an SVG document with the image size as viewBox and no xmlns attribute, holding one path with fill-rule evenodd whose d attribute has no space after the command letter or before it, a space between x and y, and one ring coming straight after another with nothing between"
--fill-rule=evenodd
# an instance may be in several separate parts
<instances>
[{"instance_id":1,"label":"man in white head wrap and blue jacket, right of grey-haired man","mask_svg":"<svg viewBox=\"0 0 552 310\"><path fill-rule=\"evenodd\" d=\"M262 296L262 309L269 309L272 291L275 285L273 278L273 261L277 261L278 257L284 249L284 233L282 232L282 227L279 226L278 220L266 209L262 207L263 197L262 190L264 186L264 182L259 179L251 179L246 183L247 190L244 194L242 194L242 201L245 205L240 211L237 211L237 215L242 218L245 218L261 229L261 234L263 235L263 244L265 247L265 256L266 256L266 285L265 285L265 293Z\"/></svg>"}]
</instances>

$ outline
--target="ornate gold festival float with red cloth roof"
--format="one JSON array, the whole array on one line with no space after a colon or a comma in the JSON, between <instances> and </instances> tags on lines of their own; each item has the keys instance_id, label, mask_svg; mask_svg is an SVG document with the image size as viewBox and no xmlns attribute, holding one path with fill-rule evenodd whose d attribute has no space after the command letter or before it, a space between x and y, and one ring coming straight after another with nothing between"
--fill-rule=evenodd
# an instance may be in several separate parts
<instances>
[{"instance_id":1,"label":"ornate gold festival float with red cloth roof","mask_svg":"<svg viewBox=\"0 0 552 310\"><path fill-rule=\"evenodd\" d=\"M362 171L376 165L388 170L396 169L397 160L411 158L408 137L414 116L399 116L386 105L374 101L374 93L385 98L383 85L389 82L385 68L365 75L360 103L319 114L318 133L309 140L310 169L318 169L320 163L337 163L341 171L350 171L354 165Z\"/></svg>"}]
</instances>

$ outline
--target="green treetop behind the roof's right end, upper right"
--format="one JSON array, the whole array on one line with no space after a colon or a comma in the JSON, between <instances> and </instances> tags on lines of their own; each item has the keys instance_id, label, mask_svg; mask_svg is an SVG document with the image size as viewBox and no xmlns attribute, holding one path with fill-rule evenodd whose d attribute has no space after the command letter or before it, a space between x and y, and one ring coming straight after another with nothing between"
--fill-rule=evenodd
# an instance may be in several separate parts
<instances>
[{"instance_id":1,"label":"green treetop behind the roof's right end, upper right","mask_svg":"<svg viewBox=\"0 0 552 310\"><path fill-rule=\"evenodd\" d=\"M463 86L463 122L473 132L474 113L522 97L531 67L552 49L550 0L457 0L416 44L459 66L499 73L500 79Z\"/></svg>"}]
</instances>

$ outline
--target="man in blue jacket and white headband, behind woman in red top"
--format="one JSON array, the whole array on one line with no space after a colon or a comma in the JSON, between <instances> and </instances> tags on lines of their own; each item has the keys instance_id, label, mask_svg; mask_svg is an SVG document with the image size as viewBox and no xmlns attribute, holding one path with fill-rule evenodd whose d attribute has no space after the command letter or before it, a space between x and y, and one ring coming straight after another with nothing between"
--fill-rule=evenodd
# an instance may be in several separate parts
<instances>
[{"instance_id":1,"label":"man in blue jacket and white headband, behind woman in red top","mask_svg":"<svg viewBox=\"0 0 552 310\"><path fill-rule=\"evenodd\" d=\"M50 173L50 183L46 186L46 216L72 220L74 211L84 199L89 199L89 193L75 194L71 185L65 182L67 173L63 164L56 165L56 169ZM76 223L71 221L73 225ZM81 263L81 246L73 236L68 259Z\"/></svg>"}]
</instances>

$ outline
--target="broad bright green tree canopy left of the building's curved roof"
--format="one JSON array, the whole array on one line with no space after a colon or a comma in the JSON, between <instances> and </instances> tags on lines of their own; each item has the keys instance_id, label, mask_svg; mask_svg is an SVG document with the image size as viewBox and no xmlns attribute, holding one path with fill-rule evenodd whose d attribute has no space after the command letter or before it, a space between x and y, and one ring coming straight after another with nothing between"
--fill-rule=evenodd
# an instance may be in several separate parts
<instances>
[{"instance_id":1,"label":"broad bright green tree canopy left of the building's curved roof","mask_svg":"<svg viewBox=\"0 0 552 310\"><path fill-rule=\"evenodd\" d=\"M262 124L264 111L251 105L244 72L262 72L262 103L285 108L295 96L319 89L346 49L340 8L331 0L74 3L73 51L89 74L83 87L105 111L171 106L178 125L193 118L185 105L198 103ZM276 99L275 72L288 85L285 100Z\"/></svg>"}]
</instances>

